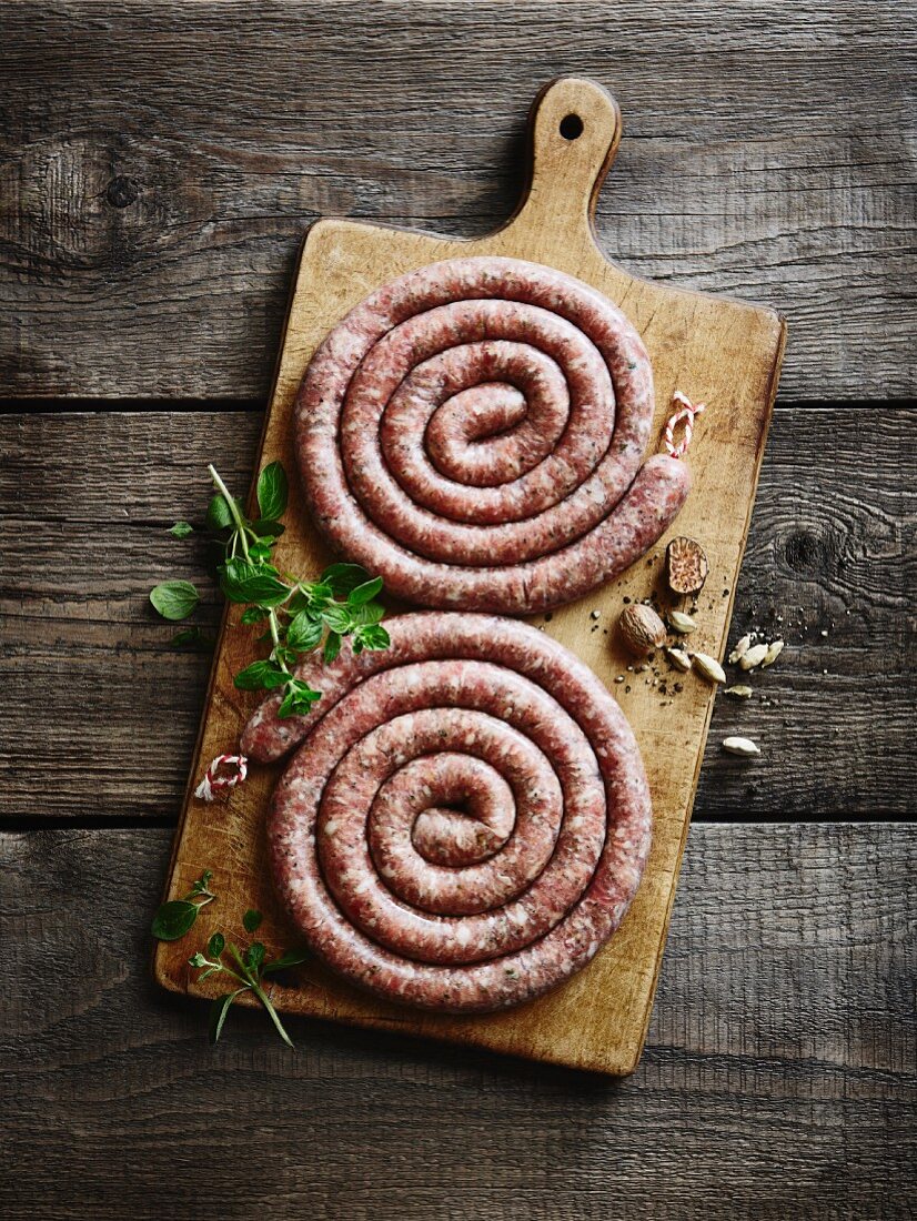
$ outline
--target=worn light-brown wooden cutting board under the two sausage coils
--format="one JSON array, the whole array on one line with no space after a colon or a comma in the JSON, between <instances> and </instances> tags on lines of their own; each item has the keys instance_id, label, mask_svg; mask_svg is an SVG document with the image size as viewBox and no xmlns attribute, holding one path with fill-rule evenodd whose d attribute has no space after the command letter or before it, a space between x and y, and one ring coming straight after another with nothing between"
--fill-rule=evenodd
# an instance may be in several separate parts
<instances>
[{"instance_id":1,"label":"worn light-brown wooden cutting board under the two sausage coils","mask_svg":"<svg viewBox=\"0 0 917 1221\"><path fill-rule=\"evenodd\" d=\"M497 232L474 242L321 220L306 233L295 275L276 385L258 469L281 459L292 474L293 402L309 359L327 331L369 292L438 259L502 254L559 267L593 284L630 317L650 352L657 416L652 444L672 411L675 389L707 403L690 449L694 488L674 527L705 547L711 575L698 600L696 648L722 656L748 531L783 354L785 325L773 310L683 292L628 275L598 249L596 197L620 138L613 99L591 81L564 78L541 92L530 116L531 168L523 201ZM309 521L297 481L277 547L281 568L311 576L330 560ZM628 670L614 624L623 598L663 590L667 538L620 580L553 615L532 619L578 653L608 684L634 728L653 796L654 834L646 875L619 932L592 963L553 994L510 1012L449 1017L385 1005L319 966L299 969L291 987L274 987L285 1012L448 1039L597 1072L636 1067L650 1021L681 852L703 756L714 691L694 674ZM598 618L593 618L595 613ZM265 811L280 767L253 767L226 802L193 797L206 764L236 747L255 697L232 675L255 656L253 629L238 608L223 620L203 725L169 872L166 896L179 897L204 868L219 901L181 941L158 945L156 979L173 991L212 998L226 990L194 982L187 966L217 928L236 934L248 907L265 913L259 939L269 951L297 943L274 896L265 851ZM659 683L653 685L654 670ZM623 681L615 681L624 675ZM674 691L680 681L681 691ZM665 684L665 694L661 683ZM241 934L243 938L245 934ZM201 1027L204 1016L201 1015ZM232 1022L230 1021L230 1028ZM308 1038L302 1028L294 1034Z\"/></svg>"}]
</instances>

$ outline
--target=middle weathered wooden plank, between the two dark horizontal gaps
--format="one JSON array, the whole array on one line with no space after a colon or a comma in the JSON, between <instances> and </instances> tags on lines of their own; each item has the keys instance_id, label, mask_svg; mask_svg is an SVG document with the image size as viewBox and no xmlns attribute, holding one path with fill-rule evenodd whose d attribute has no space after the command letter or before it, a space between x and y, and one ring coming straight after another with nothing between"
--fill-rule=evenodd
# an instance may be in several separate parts
<instances>
[{"instance_id":1,"label":"middle weathered wooden plank, between the two dark horizontal gaps","mask_svg":"<svg viewBox=\"0 0 917 1221\"><path fill-rule=\"evenodd\" d=\"M847 414L839 427L841 414L774 414L731 640L758 624L788 647L752 679L759 697L717 698L695 819L913 814L917 410ZM210 657L171 648L147 593L194 580L197 621L216 628L200 536L178 543L166 529L203 526L208 462L248 486L261 418L99 411L2 426L0 816L175 819ZM751 733L762 758L725 756L729 733Z\"/></svg>"}]
</instances>

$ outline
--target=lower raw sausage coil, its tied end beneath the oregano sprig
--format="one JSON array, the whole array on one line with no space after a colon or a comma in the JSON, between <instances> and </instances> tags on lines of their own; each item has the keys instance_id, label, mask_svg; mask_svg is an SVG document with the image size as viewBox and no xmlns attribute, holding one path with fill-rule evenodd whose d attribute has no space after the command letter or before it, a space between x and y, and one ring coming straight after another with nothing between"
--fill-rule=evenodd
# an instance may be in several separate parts
<instances>
[{"instance_id":1,"label":"lower raw sausage coil, its tied end beneath the oregano sprig","mask_svg":"<svg viewBox=\"0 0 917 1221\"><path fill-rule=\"evenodd\" d=\"M321 668L317 712L280 719L271 697L245 730L259 759L305 739L269 819L281 895L313 950L372 993L516 1005L584 967L636 891L651 834L636 742L534 628L429 612L388 630L387 651Z\"/></svg>"}]
</instances>

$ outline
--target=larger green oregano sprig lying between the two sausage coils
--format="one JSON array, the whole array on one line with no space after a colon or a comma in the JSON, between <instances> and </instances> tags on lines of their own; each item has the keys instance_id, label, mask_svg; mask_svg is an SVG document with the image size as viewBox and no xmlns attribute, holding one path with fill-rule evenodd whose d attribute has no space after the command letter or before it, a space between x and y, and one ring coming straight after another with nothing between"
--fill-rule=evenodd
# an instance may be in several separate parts
<instances>
[{"instance_id":1,"label":"larger green oregano sprig lying between the two sausage coils","mask_svg":"<svg viewBox=\"0 0 917 1221\"><path fill-rule=\"evenodd\" d=\"M271 643L269 656L247 665L233 681L243 691L282 689L281 717L305 713L321 692L293 674L304 653L321 647L325 661L332 662L344 637L350 637L354 653L388 647L388 632L381 625L385 608L377 601L382 578L370 576L359 564L332 564L317 581L281 574L272 562L288 498L281 463L271 463L258 476L259 516L254 520L244 515L216 468L208 466L208 473L216 491L208 505L206 525L223 548L217 567L220 587L230 602L245 607L242 623L265 624L261 640ZM184 538L190 526L176 521L171 534ZM187 618L198 601L190 581L166 581L150 593L156 610L172 620ZM195 639L178 632L176 640L186 636Z\"/></svg>"}]
</instances>

